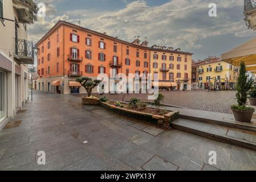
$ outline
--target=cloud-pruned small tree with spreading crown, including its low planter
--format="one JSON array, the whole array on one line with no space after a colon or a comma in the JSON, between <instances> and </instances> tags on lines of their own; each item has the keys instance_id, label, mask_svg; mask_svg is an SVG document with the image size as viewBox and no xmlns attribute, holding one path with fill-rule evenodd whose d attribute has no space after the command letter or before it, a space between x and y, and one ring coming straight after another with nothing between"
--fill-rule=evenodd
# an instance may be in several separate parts
<instances>
[{"instance_id":1,"label":"cloud-pruned small tree with spreading crown, including its low planter","mask_svg":"<svg viewBox=\"0 0 256 182\"><path fill-rule=\"evenodd\" d=\"M97 97L92 96L92 89L94 89L97 85L100 84L101 80L92 80L89 77L77 78L77 82L79 82L86 92L88 93L87 97L82 97L82 104L85 105L99 105L100 100Z\"/></svg>"}]
</instances>

